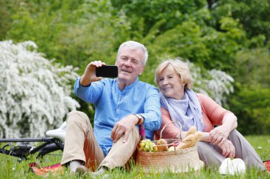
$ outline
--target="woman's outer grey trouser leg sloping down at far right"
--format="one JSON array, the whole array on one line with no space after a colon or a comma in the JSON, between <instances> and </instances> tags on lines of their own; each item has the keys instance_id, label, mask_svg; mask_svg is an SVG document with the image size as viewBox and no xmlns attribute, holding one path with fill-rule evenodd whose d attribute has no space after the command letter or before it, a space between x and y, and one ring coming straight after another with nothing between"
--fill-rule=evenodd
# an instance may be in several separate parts
<instances>
[{"instance_id":1,"label":"woman's outer grey trouser leg sloping down at far right","mask_svg":"<svg viewBox=\"0 0 270 179\"><path fill-rule=\"evenodd\" d=\"M235 147L235 158L242 158L249 168L256 167L259 171L266 170L257 152L236 129L229 133L228 139Z\"/></svg>"}]
</instances>

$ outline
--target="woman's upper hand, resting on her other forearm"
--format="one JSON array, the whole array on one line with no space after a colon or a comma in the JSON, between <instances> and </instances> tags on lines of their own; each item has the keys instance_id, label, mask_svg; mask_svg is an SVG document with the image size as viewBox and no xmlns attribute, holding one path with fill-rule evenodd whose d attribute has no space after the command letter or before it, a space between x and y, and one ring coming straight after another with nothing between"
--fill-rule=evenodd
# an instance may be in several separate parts
<instances>
[{"instance_id":1,"label":"woman's upper hand, resting on her other forearm","mask_svg":"<svg viewBox=\"0 0 270 179\"><path fill-rule=\"evenodd\" d=\"M225 125L220 125L219 127L215 127L210 131L210 142L214 145L222 144L225 142L227 137L229 136L229 128Z\"/></svg>"}]
</instances>

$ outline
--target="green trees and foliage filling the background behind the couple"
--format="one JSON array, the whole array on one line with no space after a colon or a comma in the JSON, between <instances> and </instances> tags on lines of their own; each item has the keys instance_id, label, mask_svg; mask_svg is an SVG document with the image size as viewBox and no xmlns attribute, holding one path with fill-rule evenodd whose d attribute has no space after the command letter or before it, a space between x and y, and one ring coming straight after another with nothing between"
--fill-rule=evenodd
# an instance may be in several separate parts
<instances>
[{"instance_id":1,"label":"green trees and foliage filling the background behind the couple","mask_svg":"<svg viewBox=\"0 0 270 179\"><path fill-rule=\"evenodd\" d=\"M95 59L114 64L121 42L137 40L149 52L142 81L153 83L161 59L183 57L202 77L212 69L232 76L241 90L229 109L242 114L234 103L242 91L269 88L269 14L269 0L0 0L0 40L32 40L46 58L79 67L80 75ZM92 106L80 105L92 117Z\"/></svg>"}]
</instances>

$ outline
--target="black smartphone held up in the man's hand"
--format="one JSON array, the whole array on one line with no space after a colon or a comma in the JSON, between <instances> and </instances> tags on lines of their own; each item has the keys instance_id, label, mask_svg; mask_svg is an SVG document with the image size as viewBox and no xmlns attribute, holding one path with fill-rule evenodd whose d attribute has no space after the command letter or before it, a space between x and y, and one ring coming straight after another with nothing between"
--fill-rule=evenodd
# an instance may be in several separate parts
<instances>
[{"instance_id":1,"label":"black smartphone held up in the man's hand","mask_svg":"<svg viewBox=\"0 0 270 179\"><path fill-rule=\"evenodd\" d=\"M96 68L96 76L116 78L118 76L118 67L116 65L104 65Z\"/></svg>"}]
</instances>

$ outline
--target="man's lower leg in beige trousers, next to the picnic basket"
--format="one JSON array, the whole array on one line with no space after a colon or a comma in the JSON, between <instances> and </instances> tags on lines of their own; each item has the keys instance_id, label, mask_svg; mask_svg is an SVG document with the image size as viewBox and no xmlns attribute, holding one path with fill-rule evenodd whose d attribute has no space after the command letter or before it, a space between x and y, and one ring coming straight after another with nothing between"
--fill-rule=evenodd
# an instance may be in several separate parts
<instances>
[{"instance_id":1,"label":"man's lower leg in beige trousers, next to the picnic basket","mask_svg":"<svg viewBox=\"0 0 270 179\"><path fill-rule=\"evenodd\" d=\"M124 135L112 145L109 150L109 154L104 158L100 167L105 166L108 169L113 169L119 166L125 166L131 156L136 151L136 147L139 144L140 136L137 127L131 130L129 137L125 143L123 143Z\"/></svg>"}]
</instances>

